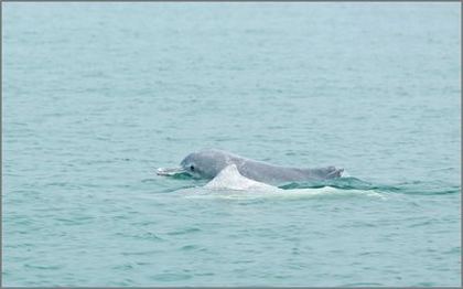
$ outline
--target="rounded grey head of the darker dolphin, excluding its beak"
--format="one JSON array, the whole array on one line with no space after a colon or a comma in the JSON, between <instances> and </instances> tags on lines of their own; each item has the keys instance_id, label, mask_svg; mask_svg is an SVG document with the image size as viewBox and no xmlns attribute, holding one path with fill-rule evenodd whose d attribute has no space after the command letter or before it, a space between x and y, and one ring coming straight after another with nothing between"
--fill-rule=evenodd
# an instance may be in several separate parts
<instances>
[{"instance_id":1,"label":"rounded grey head of the darker dolphin, excluding its beak","mask_svg":"<svg viewBox=\"0 0 463 289\"><path fill-rule=\"evenodd\" d=\"M229 164L230 158L219 150L203 150L186 156L180 165L194 178L213 179Z\"/></svg>"}]
</instances>

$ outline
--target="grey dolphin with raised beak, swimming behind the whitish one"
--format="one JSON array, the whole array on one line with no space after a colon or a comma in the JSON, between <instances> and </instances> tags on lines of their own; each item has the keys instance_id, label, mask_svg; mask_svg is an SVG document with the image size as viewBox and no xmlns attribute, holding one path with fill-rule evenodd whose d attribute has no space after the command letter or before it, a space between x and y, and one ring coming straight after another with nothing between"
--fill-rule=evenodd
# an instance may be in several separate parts
<instances>
[{"instance_id":1,"label":"grey dolphin with raised beak, swimming behind the whitish one","mask_svg":"<svg viewBox=\"0 0 463 289\"><path fill-rule=\"evenodd\" d=\"M172 175L183 172L195 178L213 179L225 167L236 164L239 173L248 179L269 184L278 184L284 182L335 179L340 178L344 171L344 169L336 169L335 167L299 169L273 165L268 162L246 159L217 149L207 149L190 153L180 164L180 168L158 169L158 174Z\"/></svg>"}]
</instances>

